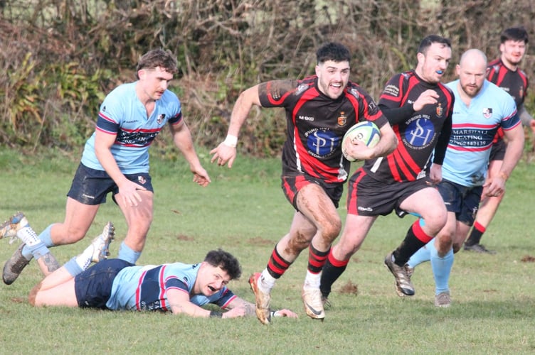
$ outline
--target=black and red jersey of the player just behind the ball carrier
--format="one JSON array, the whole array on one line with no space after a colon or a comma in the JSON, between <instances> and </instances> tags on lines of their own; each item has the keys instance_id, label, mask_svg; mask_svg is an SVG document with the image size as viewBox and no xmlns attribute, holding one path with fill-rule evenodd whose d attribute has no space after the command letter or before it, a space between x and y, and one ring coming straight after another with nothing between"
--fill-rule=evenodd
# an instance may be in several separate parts
<instances>
[{"instance_id":1,"label":"black and red jersey of the player just behind the ball carrier","mask_svg":"<svg viewBox=\"0 0 535 355\"><path fill-rule=\"evenodd\" d=\"M437 104L425 105L404 121L392 125L398 146L386 157L366 160L363 168L372 178L390 183L425 177L425 170L430 166L430 157L440 135L450 136L455 101L453 93L443 84L421 80L414 70L410 70L388 80L378 102L381 107L384 105L390 109L412 105L428 89L438 93ZM445 153L447 142L440 146L444 150L442 153Z\"/></svg>"}]
</instances>

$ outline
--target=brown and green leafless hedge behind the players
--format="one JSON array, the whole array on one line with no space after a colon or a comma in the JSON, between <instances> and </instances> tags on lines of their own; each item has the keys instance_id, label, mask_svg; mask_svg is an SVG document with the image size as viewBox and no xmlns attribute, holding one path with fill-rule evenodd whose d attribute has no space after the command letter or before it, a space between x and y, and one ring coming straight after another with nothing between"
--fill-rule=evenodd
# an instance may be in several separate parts
<instances>
[{"instance_id":1,"label":"brown and green leafless hedge behind the players","mask_svg":"<svg viewBox=\"0 0 535 355\"><path fill-rule=\"evenodd\" d=\"M452 40L449 81L464 50L497 57L504 28L524 26L535 40L533 18L531 0L0 0L0 146L77 153L105 94L135 80L139 56L152 48L178 58L170 89L196 144L213 148L243 89L312 74L324 42L351 50L351 80L378 99L389 77L414 67L425 35ZM530 78L532 53L521 65ZM277 155L284 130L279 109L255 109L239 149ZM156 151L174 154L166 136Z\"/></svg>"}]
</instances>

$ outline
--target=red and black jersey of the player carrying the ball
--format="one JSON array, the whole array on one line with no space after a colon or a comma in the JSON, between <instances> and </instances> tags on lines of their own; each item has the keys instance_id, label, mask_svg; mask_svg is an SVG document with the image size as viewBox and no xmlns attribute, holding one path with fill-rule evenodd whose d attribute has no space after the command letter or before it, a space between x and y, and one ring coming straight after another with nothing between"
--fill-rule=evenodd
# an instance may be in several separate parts
<instances>
[{"instance_id":1,"label":"red and black jersey of the player carrying the ball","mask_svg":"<svg viewBox=\"0 0 535 355\"><path fill-rule=\"evenodd\" d=\"M287 137L282 148L283 175L310 175L324 182L344 182L349 161L341 140L358 121L388 122L358 84L349 82L338 99L319 91L317 76L304 80L272 80L258 88L262 107L284 107Z\"/></svg>"}]
</instances>

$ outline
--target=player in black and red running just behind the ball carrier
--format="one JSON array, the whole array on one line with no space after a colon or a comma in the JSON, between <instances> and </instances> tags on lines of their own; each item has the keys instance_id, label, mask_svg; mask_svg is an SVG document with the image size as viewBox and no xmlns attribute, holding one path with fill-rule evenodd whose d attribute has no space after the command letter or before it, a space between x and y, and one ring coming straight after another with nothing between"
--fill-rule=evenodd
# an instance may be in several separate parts
<instances>
[{"instance_id":1,"label":"player in black and red running just behind the ball carrier","mask_svg":"<svg viewBox=\"0 0 535 355\"><path fill-rule=\"evenodd\" d=\"M324 300L377 217L393 211L399 217L420 216L384 261L396 278L396 292L414 294L405 264L446 222L444 202L432 185L442 179L440 169L450 138L453 94L440 80L451 56L450 40L429 35L418 47L415 69L394 75L383 89L379 108L396 133L398 146L385 158L366 160L349 180L344 231L323 268Z\"/></svg>"}]
</instances>

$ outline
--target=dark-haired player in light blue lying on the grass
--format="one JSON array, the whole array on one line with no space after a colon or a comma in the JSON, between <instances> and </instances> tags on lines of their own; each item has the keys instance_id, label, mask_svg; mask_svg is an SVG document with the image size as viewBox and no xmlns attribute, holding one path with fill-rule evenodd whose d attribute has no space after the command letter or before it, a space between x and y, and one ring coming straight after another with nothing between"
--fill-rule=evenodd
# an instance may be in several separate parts
<instances>
[{"instance_id":1,"label":"dark-haired player in light blue lying on the grass","mask_svg":"<svg viewBox=\"0 0 535 355\"><path fill-rule=\"evenodd\" d=\"M31 290L31 305L159 310L191 317L255 315L253 303L227 288L230 280L241 275L240 264L230 253L221 249L209 251L204 261L196 264L135 266L121 259L107 259L114 233L112 222L108 222L83 253L52 273L49 266L57 261L50 251L33 251L45 278ZM30 249L38 244L36 232L20 212L0 225L0 239L4 236L16 236ZM96 264L90 267L92 262ZM208 303L226 312L201 307ZM271 312L273 317L297 317L290 310Z\"/></svg>"}]
</instances>

